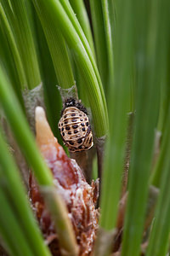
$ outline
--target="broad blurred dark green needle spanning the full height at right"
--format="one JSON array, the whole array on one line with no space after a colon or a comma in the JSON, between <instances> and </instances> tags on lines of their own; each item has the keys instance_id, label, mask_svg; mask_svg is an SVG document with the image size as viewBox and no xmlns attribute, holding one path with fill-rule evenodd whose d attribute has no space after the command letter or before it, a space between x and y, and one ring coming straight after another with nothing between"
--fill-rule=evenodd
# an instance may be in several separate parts
<instances>
[{"instance_id":1,"label":"broad blurred dark green needle spanning the full height at right","mask_svg":"<svg viewBox=\"0 0 170 256\"><path fill-rule=\"evenodd\" d=\"M127 214L124 224L122 256L139 255L144 230L144 217L149 189L155 129L159 113L161 55L161 16L156 4L132 1L135 21L135 49L137 67L136 115L129 170ZM149 24L149 26L148 26ZM141 61L142 60L142 61ZM142 125L141 125L142 124Z\"/></svg>"}]
</instances>

